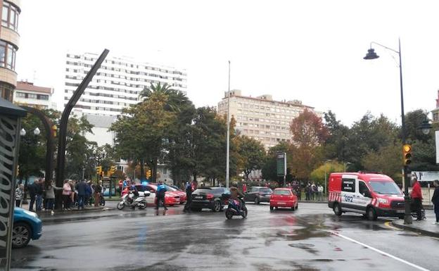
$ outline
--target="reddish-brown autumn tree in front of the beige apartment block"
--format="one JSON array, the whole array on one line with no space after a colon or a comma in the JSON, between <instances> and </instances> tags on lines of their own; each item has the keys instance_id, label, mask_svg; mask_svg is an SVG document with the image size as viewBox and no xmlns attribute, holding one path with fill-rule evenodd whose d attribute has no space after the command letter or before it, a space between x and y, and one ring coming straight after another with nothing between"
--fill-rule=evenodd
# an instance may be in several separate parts
<instances>
[{"instance_id":1,"label":"reddish-brown autumn tree in front of the beige apartment block","mask_svg":"<svg viewBox=\"0 0 439 271\"><path fill-rule=\"evenodd\" d=\"M290 130L293 137L288 165L297 179L307 180L322 160L329 131L322 118L307 109L291 122Z\"/></svg>"}]
</instances>

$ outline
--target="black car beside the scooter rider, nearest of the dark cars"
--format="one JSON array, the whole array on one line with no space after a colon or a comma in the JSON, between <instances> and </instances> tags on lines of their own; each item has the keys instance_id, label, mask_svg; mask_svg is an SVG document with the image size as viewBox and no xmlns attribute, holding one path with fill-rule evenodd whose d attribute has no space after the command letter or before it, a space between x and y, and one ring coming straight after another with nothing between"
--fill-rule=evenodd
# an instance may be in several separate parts
<instances>
[{"instance_id":1,"label":"black car beside the scooter rider, nearest of the dark cars","mask_svg":"<svg viewBox=\"0 0 439 271\"><path fill-rule=\"evenodd\" d=\"M222 194L230 194L230 190L224 187L203 187L192 193L191 210L199 212L203 208L209 208L214 212L220 212L226 204Z\"/></svg>"}]
</instances>

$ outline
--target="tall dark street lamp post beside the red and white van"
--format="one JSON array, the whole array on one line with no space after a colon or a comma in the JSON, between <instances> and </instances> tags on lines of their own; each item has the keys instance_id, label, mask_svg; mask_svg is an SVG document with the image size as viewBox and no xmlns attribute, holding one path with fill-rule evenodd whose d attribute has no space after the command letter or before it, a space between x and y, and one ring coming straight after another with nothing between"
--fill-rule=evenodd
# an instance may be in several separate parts
<instances>
[{"instance_id":1,"label":"tall dark street lamp post beside the red and white van","mask_svg":"<svg viewBox=\"0 0 439 271\"><path fill-rule=\"evenodd\" d=\"M400 92L401 92L401 134L402 134L402 145L405 145L405 115L404 115L404 94L402 92L402 62L401 62L401 40L398 39L398 50L391 49L387 46L378 44L376 42L371 42L370 49L367 50L367 55L364 56L364 59L370 60L370 59L376 59L379 56L375 53L375 50L372 49L372 44L376 44L378 46L381 46L385 49L388 49L390 51L393 51L398 54L399 60L400 60ZM402 170L402 178L404 180L404 202L405 202L405 216L404 216L404 224L412 224L412 215L410 210L410 196L409 196L409 178L407 177L407 171L408 167L407 165L404 165L404 168Z\"/></svg>"}]
</instances>

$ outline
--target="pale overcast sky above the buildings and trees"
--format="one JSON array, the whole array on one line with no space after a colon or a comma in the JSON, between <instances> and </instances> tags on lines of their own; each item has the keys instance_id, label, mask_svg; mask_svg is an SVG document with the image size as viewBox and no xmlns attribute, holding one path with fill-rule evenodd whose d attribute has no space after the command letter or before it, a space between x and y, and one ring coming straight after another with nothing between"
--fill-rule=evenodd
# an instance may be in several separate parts
<instances>
[{"instance_id":1,"label":"pale overcast sky above the buildings and trees","mask_svg":"<svg viewBox=\"0 0 439 271\"><path fill-rule=\"evenodd\" d=\"M412 3L412 4L410 4ZM402 41L406 111L435 108L438 1L23 0L19 79L63 92L68 50L132 56L186 68L188 96L216 106L244 95L300 99L350 125L364 113L400 122L397 49ZM394 58L393 58L394 57ZM61 97L61 95L58 95Z\"/></svg>"}]
</instances>

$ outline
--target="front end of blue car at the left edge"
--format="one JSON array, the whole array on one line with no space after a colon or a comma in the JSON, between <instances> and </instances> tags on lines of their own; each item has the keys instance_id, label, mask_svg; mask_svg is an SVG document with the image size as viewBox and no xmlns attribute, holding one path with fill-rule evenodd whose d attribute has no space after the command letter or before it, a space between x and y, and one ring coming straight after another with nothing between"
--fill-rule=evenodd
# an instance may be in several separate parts
<instances>
[{"instance_id":1,"label":"front end of blue car at the left edge","mask_svg":"<svg viewBox=\"0 0 439 271\"><path fill-rule=\"evenodd\" d=\"M42 236L43 223L36 213L15 207L12 229L12 247L23 248L30 239L37 240Z\"/></svg>"}]
</instances>

